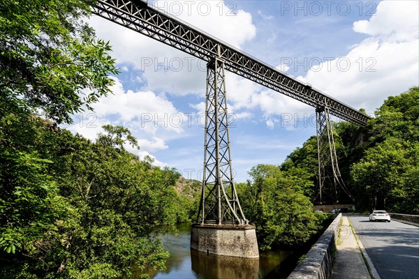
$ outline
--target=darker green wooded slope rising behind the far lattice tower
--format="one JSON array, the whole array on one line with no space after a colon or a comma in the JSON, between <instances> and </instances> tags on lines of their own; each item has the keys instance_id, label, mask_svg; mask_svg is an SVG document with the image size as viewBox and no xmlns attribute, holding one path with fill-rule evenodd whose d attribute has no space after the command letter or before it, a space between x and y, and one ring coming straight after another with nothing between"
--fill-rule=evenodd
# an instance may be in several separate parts
<instances>
[{"instance_id":1,"label":"darker green wooded slope rising behind the far lattice tower","mask_svg":"<svg viewBox=\"0 0 419 279\"><path fill-rule=\"evenodd\" d=\"M387 209L418 214L419 87L389 97L366 127L333 123L341 176L355 195L358 209ZM307 174L304 195L314 197L316 137L295 149L281 165ZM311 185L311 186L310 186Z\"/></svg>"}]
</instances>

